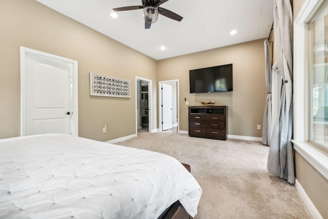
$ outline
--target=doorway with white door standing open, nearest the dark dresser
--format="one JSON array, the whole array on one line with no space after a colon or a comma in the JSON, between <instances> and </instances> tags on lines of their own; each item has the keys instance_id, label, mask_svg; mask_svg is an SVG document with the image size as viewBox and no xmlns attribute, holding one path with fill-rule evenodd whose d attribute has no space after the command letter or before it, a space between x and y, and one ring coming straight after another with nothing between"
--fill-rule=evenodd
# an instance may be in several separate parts
<instances>
[{"instance_id":1,"label":"doorway with white door standing open, nearest the dark dresser","mask_svg":"<svg viewBox=\"0 0 328 219\"><path fill-rule=\"evenodd\" d=\"M179 132L179 80L159 82L159 131Z\"/></svg>"}]
</instances>

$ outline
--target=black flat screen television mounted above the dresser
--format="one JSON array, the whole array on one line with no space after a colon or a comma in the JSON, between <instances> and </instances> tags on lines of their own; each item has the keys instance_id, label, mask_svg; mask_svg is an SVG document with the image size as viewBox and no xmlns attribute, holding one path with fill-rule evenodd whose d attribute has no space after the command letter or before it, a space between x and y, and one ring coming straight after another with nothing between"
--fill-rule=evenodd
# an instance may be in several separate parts
<instances>
[{"instance_id":1,"label":"black flat screen television mounted above the dresser","mask_svg":"<svg viewBox=\"0 0 328 219\"><path fill-rule=\"evenodd\" d=\"M190 93L232 91L232 64L189 71Z\"/></svg>"}]
</instances>

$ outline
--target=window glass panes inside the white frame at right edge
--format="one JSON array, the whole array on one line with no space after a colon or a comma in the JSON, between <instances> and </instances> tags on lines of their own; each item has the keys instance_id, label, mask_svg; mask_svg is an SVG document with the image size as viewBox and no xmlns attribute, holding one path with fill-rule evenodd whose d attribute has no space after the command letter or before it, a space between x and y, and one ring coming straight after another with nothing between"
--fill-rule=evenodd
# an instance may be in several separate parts
<instances>
[{"instance_id":1,"label":"window glass panes inside the white frame at right edge","mask_svg":"<svg viewBox=\"0 0 328 219\"><path fill-rule=\"evenodd\" d=\"M328 151L328 7L311 22L310 142Z\"/></svg>"}]
</instances>

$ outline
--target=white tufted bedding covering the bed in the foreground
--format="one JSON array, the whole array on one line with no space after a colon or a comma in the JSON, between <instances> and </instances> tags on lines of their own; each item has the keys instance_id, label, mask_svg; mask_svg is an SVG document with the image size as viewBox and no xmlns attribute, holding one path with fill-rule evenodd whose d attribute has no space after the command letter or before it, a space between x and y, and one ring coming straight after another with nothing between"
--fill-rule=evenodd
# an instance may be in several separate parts
<instances>
[{"instance_id":1,"label":"white tufted bedding covering the bed in the foreground","mask_svg":"<svg viewBox=\"0 0 328 219\"><path fill-rule=\"evenodd\" d=\"M157 218L201 196L175 158L63 134L0 140L1 218Z\"/></svg>"}]
</instances>

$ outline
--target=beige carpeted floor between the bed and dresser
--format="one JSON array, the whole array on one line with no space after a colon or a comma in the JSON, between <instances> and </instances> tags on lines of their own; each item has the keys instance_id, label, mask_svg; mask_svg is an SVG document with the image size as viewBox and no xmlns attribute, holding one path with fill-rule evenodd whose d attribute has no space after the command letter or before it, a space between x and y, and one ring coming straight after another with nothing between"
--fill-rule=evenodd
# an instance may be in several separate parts
<instances>
[{"instance_id":1,"label":"beige carpeted floor between the bed and dresser","mask_svg":"<svg viewBox=\"0 0 328 219\"><path fill-rule=\"evenodd\" d=\"M142 133L117 145L165 153L191 166L200 218L311 218L296 188L267 171L269 147L176 133Z\"/></svg>"}]
</instances>

